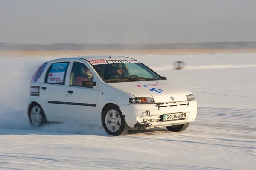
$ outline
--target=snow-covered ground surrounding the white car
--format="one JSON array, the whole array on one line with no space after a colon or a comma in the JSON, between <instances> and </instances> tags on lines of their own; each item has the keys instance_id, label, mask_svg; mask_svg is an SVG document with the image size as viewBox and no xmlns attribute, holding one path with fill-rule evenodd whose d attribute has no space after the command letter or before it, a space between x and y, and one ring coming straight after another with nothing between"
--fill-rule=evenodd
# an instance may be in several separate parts
<instances>
[{"instance_id":1,"label":"snow-covered ground surrounding the white car","mask_svg":"<svg viewBox=\"0 0 256 170\"><path fill-rule=\"evenodd\" d=\"M256 54L128 55L195 94L189 128L131 130L112 137L102 127L70 122L29 125L29 81L56 57L0 58L0 169L255 170ZM174 61L186 63L174 70Z\"/></svg>"}]
</instances>

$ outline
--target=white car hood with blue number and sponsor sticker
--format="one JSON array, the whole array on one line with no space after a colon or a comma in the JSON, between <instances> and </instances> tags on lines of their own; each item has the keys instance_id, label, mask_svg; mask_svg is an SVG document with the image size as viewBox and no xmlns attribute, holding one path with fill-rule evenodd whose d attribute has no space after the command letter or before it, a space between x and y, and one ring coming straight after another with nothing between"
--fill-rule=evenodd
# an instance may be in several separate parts
<instances>
[{"instance_id":1,"label":"white car hood with blue number and sponsor sticker","mask_svg":"<svg viewBox=\"0 0 256 170\"><path fill-rule=\"evenodd\" d=\"M187 101L192 92L167 80L137 81L109 84L135 97L153 97L156 103ZM171 99L173 98L173 100Z\"/></svg>"}]
</instances>

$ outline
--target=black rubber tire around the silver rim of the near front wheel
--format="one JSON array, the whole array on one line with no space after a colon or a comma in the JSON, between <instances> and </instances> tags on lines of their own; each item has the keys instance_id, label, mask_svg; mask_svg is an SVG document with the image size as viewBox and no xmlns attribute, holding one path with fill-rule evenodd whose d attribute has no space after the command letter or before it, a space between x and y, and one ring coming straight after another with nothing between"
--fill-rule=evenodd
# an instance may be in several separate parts
<instances>
[{"instance_id":1,"label":"black rubber tire around the silver rim of the near front wheel","mask_svg":"<svg viewBox=\"0 0 256 170\"><path fill-rule=\"evenodd\" d=\"M118 113L118 116L120 116L120 118L121 118L121 124L120 125L118 124L119 125L119 129L116 130L116 131L113 131L113 130L111 131L111 129L109 129L110 127L107 124L111 123L111 121L108 121L108 123L106 124L106 115L107 114L111 114L110 112L113 112L113 110L115 110ZM116 118L118 116L116 115ZM103 124L103 127L104 127L105 131L109 135L112 135L112 136L125 135L130 130L130 127L128 127L128 125L125 122L125 119L124 119L124 117L122 115L121 110L118 107L114 106L114 105L107 107L103 111L103 113L102 113L102 124Z\"/></svg>"}]
</instances>

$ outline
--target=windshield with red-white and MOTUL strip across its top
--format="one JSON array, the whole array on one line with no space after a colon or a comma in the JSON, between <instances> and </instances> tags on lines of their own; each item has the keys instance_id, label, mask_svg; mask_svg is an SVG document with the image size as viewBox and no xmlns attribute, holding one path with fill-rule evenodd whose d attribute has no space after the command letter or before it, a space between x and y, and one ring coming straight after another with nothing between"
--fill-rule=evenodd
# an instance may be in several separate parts
<instances>
[{"instance_id":1,"label":"windshield with red-white and MOTUL strip across its top","mask_svg":"<svg viewBox=\"0 0 256 170\"><path fill-rule=\"evenodd\" d=\"M163 80L157 73L135 60L89 62L106 83Z\"/></svg>"}]
</instances>

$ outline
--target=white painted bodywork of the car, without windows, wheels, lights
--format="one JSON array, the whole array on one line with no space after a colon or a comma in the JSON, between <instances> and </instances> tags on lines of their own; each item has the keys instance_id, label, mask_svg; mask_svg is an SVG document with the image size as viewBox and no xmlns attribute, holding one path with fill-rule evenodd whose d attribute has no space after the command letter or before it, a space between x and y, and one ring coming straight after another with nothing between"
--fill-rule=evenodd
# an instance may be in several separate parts
<instances>
[{"instance_id":1,"label":"white painted bodywork of the car, without windows, wheels, lights","mask_svg":"<svg viewBox=\"0 0 256 170\"><path fill-rule=\"evenodd\" d=\"M105 59L108 56L89 56L81 58L62 58L47 62L47 66L31 86L40 86L39 96L30 96L29 104L36 102L41 105L48 121L76 120L102 124L101 114L106 104L116 104L124 115L130 127L153 128L195 121L197 115L197 101L187 101L189 90L174 84L169 80L133 81L121 83L105 83L98 73L86 60ZM126 57L113 57L111 60L131 60ZM134 60L134 59L133 59ZM73 62L84 63L94 75L96 86L93 88L70 86L70 74ZM65 84L44 83L46 72L52 63L69 62ZM46 87L45 90L41 89ZM69 94L68 91L73 91ZM154 104L130 104L129 98L154 98ZM172 97L172 99L171 99ZM59 104L49 103L59 102ZM92 104L95 106L92 106ZM150 115L146 115L150 111ZM184 120L162 121L163 114L186 112Z\"/></svg>"}]
</instances>

